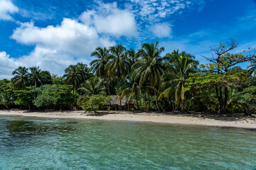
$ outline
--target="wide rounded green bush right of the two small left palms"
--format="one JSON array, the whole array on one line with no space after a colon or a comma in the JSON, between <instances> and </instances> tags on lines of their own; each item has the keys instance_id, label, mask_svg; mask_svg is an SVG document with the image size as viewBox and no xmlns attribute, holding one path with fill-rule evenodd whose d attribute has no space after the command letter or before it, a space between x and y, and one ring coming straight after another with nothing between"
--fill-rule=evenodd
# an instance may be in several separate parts
<instances>
[{"instance_id":1,"label":"wide rounded green bush right of the two small left palms","mask_svg":"<svg viewBox=\"0 0 256 170\"><path fill-rule=\"evenodd\" d=\"M72 92L72 86L45 85L38 91L41 91L41 93L33 101L37 107L75 104L75 94Z\"/></svg>"}]
</instances>

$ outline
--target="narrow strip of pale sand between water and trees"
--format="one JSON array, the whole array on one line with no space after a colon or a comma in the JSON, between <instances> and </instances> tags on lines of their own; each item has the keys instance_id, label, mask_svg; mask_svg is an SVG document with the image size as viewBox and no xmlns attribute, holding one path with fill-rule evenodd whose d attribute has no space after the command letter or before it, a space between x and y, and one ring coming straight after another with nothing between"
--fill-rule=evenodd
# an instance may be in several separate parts
<instances>
[{"instance_id":1,"label":"narrow strip of pale sand between water and trees","mask_svg":"<svg viewBox=\"0 0 256 170\"><path fill-rule=\"evenodd\" d=\"M256 129L256 118L223 117L205 114L157 113L157 112L132 112L132 111L102 111L95 116L84 111L63 112L31 112L31 111L0 111L0 116L27 116L39 118L75 118L97 120L127 120L154 123L173 123L183 125L208 125L230 128Z\"/></svg>"}]
</instances>

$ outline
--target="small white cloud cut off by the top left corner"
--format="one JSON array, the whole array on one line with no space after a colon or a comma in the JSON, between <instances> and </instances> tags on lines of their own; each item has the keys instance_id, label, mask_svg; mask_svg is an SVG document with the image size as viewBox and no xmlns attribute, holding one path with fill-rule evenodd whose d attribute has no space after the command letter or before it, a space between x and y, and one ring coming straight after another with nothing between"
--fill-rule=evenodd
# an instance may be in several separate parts
<instances>
[{"instance_id":1,"label":"small white cloud cut off by the top left corner","mask_svg":"<svg viewBox=\"0 0 256 170\"><path fill-rule=\"evenodd\" d=\"M12 21L12 13L18 12L18 7L11 0L0 0L0 20Z\"/></svg>"}]
</instances>

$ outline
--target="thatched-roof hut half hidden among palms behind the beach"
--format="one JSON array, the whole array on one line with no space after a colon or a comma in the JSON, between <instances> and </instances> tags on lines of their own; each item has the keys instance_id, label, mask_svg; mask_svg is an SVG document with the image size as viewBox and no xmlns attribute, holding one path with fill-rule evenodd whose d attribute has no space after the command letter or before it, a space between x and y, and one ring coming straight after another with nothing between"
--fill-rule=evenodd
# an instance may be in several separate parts
<instances>
[{"instance_id":1,"label":"thatched-roof hut half hidden among palms behind the beach","mask_svg":"<svg viewBox=\"0 0 256 170\"><path fill-rule=\"evenodd\" d=\"M111 96L112 101L107 103L105 106L118 109L118 110L129 110L130 108L134 108L134 102L130 99L128 102L128 97L124 96L122 100L119 101L119 96Z\"/></svg>"}]
</instances>

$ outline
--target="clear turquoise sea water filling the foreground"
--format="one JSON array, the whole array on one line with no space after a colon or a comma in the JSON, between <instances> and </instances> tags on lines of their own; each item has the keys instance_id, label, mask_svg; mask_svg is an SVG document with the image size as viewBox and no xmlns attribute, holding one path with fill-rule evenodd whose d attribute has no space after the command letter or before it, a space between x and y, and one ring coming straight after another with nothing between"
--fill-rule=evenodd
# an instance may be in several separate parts
<instances>
[{"instance_id":1,"label":"clear turquoise sea water filling the foreground","mask_svg":"<svg viewBox=\"0 0 256 170\"><path fill-rule=\"evenodd\" d=\"M256 131L0 117L0 169L256 169Z\"/></svg>"}]
</instances>

